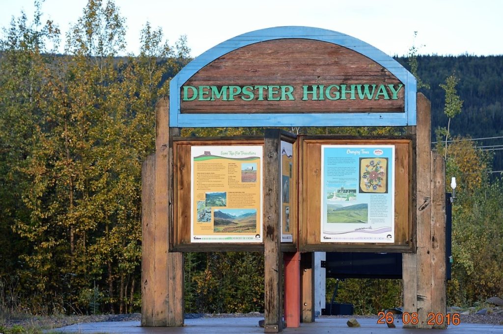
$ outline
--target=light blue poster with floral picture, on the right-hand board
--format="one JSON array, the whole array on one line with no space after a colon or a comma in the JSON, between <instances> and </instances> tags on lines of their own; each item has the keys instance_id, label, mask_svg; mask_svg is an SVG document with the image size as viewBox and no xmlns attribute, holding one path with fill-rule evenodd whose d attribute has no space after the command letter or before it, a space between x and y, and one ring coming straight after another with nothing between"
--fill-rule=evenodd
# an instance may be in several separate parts
<instances>
[{"instance_id":1,"label":"light blue poster with floral picture, on the right-hand board","mask_svg":"<svg viewBox=\"0 0 503 334\"><path fill-rule=\"evenodd\" d=\"M394 145L321 146L321 242L394 243Z\"/></svg>"}]
</instances>

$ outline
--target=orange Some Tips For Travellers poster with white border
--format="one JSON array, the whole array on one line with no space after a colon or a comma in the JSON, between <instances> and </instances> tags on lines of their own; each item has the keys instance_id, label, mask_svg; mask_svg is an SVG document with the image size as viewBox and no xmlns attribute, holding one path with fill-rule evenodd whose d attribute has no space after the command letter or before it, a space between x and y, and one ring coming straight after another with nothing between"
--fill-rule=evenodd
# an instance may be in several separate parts
<instances>
[{"instance_id":1,"label":"orange Some Tips For Travellers poster with white border","mask_svg":"<svg viewBox=\"0 0 503 334\"><path fill-rule=\"evenodd\" d=\"M191 242L262 243L262 146L191 147Z\"/></svg>"}]
</instances>

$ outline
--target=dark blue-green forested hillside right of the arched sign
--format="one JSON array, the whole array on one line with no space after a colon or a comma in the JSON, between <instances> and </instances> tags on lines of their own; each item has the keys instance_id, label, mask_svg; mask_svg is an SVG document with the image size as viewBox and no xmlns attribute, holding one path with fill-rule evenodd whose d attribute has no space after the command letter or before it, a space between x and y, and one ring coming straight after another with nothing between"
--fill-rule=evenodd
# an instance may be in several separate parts
<instances>
[{"instance_id":1,"label":"dark blue-green forested hillside right of the arched sign","mask_svg":"<svg viewBox=\"0 0 503 334\"><path fill-rule=\"evenodd\" d=\"M406 58L396 58L409 68ZM432 141L435 129L447 127L444 114L445 92L440 87L446 78L459 78L457 90L463 100L460 115L451 121L451 134L471 138L502 137L477 140L480 146L501 145L494 151L494 170L503 170L503 55L499 56L417 56L418 76L430 88L420 91L432 103ZM483 149L490 149L484 147Z\"/></svg>"}]
</instances>

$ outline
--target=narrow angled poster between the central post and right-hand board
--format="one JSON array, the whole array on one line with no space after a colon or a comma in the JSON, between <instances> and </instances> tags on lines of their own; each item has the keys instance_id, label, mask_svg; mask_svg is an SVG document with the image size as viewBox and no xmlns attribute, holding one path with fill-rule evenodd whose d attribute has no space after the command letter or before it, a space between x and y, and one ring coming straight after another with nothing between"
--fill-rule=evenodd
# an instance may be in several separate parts
<instances>
[{"instance_id":1,"label":"narrow angled poster between the central post and right-hand board","mask_svg":"<svg viewBox=\"0 0 503 334\"><path fill-rule=\"evenodd\" d=\"M293 144L281 141L281 242L293 243Z\"/></svg>"}]
</instances>

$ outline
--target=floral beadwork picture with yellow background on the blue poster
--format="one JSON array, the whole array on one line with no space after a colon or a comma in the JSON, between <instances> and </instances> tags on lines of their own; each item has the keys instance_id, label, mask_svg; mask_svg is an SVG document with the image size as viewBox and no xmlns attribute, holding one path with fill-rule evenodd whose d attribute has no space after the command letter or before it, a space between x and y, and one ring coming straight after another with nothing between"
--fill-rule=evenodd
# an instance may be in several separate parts
<instances>
[{"instance_id":1,"label":"floral beadwork picture with yellow background on the blue poster","mask_svg":"<svg viewBox=\"0 0 503 334\"><path fill-rule=\"evenodd\" d=\"M388 193L388 158L360 158L360 193Z\"/></svg>"}]
</instances>

